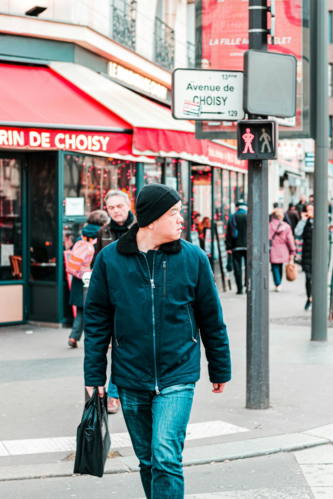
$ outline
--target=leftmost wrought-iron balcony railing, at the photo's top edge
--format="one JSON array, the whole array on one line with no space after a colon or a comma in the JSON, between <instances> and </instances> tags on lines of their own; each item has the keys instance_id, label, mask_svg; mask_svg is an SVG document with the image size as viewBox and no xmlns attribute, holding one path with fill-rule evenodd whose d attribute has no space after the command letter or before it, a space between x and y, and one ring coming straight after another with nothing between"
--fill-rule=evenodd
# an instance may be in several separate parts
<instances>
[{"instance_id":1,"label":"leftmost wrought-iron balcony railing, at the photo's top edge","mask_svg":"<svg viewBox=\"0 0 333 499\"><path fill-rule=\"evenodd\" d=\"M112 0L110 37L135 50L135 0Z\"/></svg>"}]
</instances>

